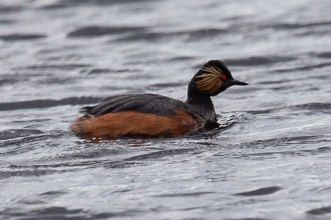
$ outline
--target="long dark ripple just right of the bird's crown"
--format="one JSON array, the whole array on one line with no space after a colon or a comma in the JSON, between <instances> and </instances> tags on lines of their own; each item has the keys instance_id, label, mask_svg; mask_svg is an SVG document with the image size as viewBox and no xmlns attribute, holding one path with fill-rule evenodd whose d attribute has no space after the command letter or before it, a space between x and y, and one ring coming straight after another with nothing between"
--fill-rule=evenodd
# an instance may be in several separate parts
<instances>
[{"instance_id":1,"label":"long dark ripple just right of the bird's crown","mask_svg":"<svg viewBox=\"0 0 331 220\"><path fill-rule=\"evenodd\" d=\"M258 66L293 60L295 60L294 57L288 56L252 56L247 58L227 59L224 60L224 62L229 66Z\"/></svg>"}]
</instances>

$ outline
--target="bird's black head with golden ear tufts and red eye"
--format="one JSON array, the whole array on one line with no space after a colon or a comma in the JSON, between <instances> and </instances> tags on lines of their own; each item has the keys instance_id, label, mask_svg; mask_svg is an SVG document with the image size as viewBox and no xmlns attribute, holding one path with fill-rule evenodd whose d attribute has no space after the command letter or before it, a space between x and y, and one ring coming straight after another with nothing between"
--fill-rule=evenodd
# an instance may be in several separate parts
<instances>
[{"instance_id":1,"label":"bird's black head with golden ear tufts and red eye","mask_svg":"<svg viewBox=\"0 0 331 220\"><path fill-rule=\"evenodd\" d=\"M188 97L216 96L233 85L248 85L248 83L234 79L224 62L209 60L191 79L187 93Z\"/></svg>"}]
</instances>

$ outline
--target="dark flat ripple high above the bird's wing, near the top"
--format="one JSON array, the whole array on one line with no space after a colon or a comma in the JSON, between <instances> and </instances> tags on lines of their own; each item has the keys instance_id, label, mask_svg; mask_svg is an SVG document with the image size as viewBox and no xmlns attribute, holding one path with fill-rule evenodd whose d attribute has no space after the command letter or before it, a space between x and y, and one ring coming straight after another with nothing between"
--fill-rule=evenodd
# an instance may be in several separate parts
<instances>
[{"instance_id":1,"label":"dark flat ripple high above the bird's wing, near the top","mask_svg":"<svg viewBox=\"0 0 331 220\"><path fill-rule=\"evenodd\" d=\"M133 26L88 26L81 27L70 32L68 37L98 37L103 35L126 34L131 32L143 32L147 27L133 27Z\"/></svg>"}]
</instances>

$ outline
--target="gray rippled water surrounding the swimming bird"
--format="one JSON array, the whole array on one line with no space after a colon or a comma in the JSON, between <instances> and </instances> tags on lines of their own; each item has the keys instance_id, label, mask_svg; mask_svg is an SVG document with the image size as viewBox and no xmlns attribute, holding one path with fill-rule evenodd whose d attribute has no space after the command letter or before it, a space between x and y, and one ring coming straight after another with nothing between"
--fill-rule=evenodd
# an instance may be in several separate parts
<instances>
[{"instance_id":1,"label":"gray rippled water surrounding the swimming bird","mask_svg":"<svg viewBox=\"0 0 331 220\"><path fill-rule=\"evenodd\" d=\"M0 218L331 219L331 7L320 1L3 0ZM84 105L239 80L202 135L91 143Z\"/></svg>"}]
</instances>

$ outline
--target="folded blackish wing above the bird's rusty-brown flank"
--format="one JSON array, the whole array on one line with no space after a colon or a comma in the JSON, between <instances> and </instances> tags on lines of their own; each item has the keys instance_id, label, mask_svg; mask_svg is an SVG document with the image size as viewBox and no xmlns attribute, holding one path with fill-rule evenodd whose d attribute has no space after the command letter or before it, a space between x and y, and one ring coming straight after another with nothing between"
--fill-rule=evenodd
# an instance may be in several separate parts
<instances>
[{"instance_id":1,"label":"folded blackish wing above the bird's rusty-brown flank","mask_svg":"<svg viewBox=\"0 0 331 220\"><path fill-rule=\"evenodd\" d=\"M158 116L171 116L176 115L179 107L185 108L185 104L168 97L154 94L131 94L105 98L99 105L84 107L81 112L100 116L132 110Z\"/></svg>"}]
</instances>

